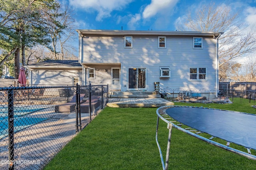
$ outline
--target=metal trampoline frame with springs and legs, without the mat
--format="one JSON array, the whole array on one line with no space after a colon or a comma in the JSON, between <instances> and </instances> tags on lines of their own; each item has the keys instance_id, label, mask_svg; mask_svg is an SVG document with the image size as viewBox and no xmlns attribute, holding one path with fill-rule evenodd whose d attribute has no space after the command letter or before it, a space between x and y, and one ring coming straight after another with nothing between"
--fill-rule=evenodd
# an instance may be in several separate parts
<instances>
[{"instance_id":1,"label":"metal trampoline frame with springs and legs, without the mat","mask_svg":"<svg viewBox=\"0 0 256 170\"><path fill-rule=\"evenodd\" d=\"M228 150L230 152L233 152L233 153L236 153L236 154L239 154L239 155L242 155L242 156L245 156L246 158L249 158L249 159L252 159L252 160L256 160L256 156L255 155L252 155L251 152L250 152L250 149L249 148L246 148L248 153L246 152L243 152L241 150L237 150L237 149L234 149L232 147L229 147L229 143L232 142L232 141L229 141L227 142L227 145L223 145L223 144L220 144L218 142L215 142L215 141L212 141L212 139L214 138L213 136L210 137L210 139L207 139L205 137L202 137L198 134L200 133L204 133L204 132L200 132L198 130L198 133L193 133L191 131L188 131L184 128L181 127L181 125L183 124L174 124L174 122L179 122L178 120L175 120L175 119L172 119L172 117L170 117L167 113L166 113L166 110L169 109L169 108L172 108L172 107L194 107L194 106L162 106L162 107L159 107L157 110L156 110L156 114L157 114L157 123L156 123L156 144L158 146L158 149L159 149L159 153L160 153L160 158L161 158L161 162L162 162L162 168L163 170L167 170L168 169L168 163L169 163L169 154L170 154L170 143L171 143L171 136L172 136L172 127L184 132L184 133L187 133L188 135L191 135L192 137L196 137L202 141L205 141L207 143L210 143L216 147L219 147L219 148L222 148L222 149L225 149L225 150ZM205 109L212 109L212 108L207 108L207 107L196 107L196 108L205 108ZM219 109L216 109L216 110L219 110ZM225 111L228 111L228 110L225 110ZM238 112L238 113L242 113L242 112ZM158 125L159 125L159 118L162 119L164 122L167 123L167 128L169 129L169 133L168 133L168 143L167 143L167 149L166 149L166 159L165 159L165 162L164 162L164 158L163 158L163 155L162 155L162 150L160 148L160 144L158 142ZM188 126L188 125L186 125ZM194 128L192 128L194 129Z\"/></svg>"}]
</instances>

